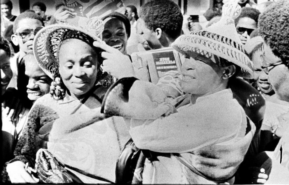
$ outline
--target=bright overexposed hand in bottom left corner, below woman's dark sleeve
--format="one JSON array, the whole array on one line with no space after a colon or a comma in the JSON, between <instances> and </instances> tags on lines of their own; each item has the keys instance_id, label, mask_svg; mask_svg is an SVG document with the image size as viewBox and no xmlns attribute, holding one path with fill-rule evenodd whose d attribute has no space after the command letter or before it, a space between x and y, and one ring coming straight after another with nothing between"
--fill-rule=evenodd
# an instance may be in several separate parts
<instances>
[{"instance_id":1,"label":"bright overexposed hand in bottom left corner, below woman's dark sleeve","mask_svg":"<svg viewBox=\"0 0 289 185\"><path fill-rule=\"evenodd\" d=\"M21 161L15 161L7 165L6 170L12 183L39 182L39 179L30 175L25 168L26 165Z\"/></svg>"}]
</instances>

